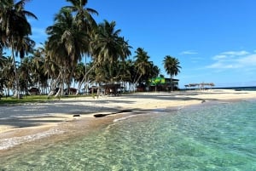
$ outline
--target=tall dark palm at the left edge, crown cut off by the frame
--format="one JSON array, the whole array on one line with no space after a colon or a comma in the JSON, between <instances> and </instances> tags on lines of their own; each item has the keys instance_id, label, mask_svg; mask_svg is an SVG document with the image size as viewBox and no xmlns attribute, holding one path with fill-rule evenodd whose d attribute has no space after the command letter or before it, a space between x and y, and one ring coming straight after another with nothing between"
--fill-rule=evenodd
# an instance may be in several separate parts
<instances>
[{"instance_id":1,"label":"tall dark palm at the left edge, crown cut off by the frame","mask_svg":"<svg viewBox=\"0 0 256 171\"><path fill-rule=\"evenodd\" d=\"M15 3L14 0L3 0L0 5L0 30L2 32L2 41L7 47L11 48L13 65L15 69L16 92L18 99L19 93L19 75L15 66L15 53L20 54L20 58L26 54L24 39L29 39L32 34L32 28L26 19L26 16L37 19L36 15L24 9L28 0L20 0Z\"/></svg>"}]
</instances>

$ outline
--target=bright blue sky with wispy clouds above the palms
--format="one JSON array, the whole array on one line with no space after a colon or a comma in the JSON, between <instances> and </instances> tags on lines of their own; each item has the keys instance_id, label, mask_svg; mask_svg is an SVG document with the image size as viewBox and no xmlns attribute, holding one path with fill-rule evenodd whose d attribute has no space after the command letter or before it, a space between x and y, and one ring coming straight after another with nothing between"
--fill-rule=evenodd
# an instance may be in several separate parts
<instances>
[{"instance_id":1,"label":"bright blue sky with wispy clouds above the palms","mask_svg":"<svg viewBox=\"0 0 256 171\"><path fill-rule=\"evenodd\" d=\"M256 86L255 0L88 0L87 8L102 20L116 21L120 36L129 40L131 58L144 48L166 75L162 61L171 55L180 61L180 88L189 83L216 87ZM44 43L45 28L66 0L32 0L26 9L32 39ZM169 77L166 75L166 77Z\"/></svg>"}]
</instances>

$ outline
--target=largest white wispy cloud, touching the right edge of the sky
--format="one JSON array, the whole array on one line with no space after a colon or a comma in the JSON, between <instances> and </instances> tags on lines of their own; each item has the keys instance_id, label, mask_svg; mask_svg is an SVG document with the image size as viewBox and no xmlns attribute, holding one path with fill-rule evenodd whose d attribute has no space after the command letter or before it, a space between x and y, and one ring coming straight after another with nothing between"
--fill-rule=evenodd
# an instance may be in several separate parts
<instances>
[{"instance_id":1,"label":"largest white wispy cloud, touching the right edge of the sky","mask_svg":"<svg viewBox=\"0 0 256 171\"><path fill-rule=\"evenodd\" d=\"M215 55L212 60L215 62L207 66L207 68L224 70L256 66L256 54L250 54L247 51L223 52Z\"/></svg>"}]
</instances>

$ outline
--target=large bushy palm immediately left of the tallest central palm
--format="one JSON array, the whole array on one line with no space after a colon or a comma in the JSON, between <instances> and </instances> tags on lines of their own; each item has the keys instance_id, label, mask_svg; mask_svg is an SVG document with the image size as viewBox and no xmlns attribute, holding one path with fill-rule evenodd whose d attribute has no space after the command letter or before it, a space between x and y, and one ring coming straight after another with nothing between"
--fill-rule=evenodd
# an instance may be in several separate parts
<instances>
[{"instance_id":1,"label":"large bushy palm immediately left of the tallest central palm","mask_svg":"<svg viewBox=\"0 0 256 171\"><path fill-rule=\"evenodd\" d=\"M63 95L67 67L71 68L69 76L72 76L75 66L82 59L84 49L89 44L87 34L79 28L70 9L61 9L60 13L55 15L54 26L47 27L46 31L49 34L46 49L48 49L51 60L60 65L63 71L61 81L61 94Z\"/></svg>"}]
</instances>

